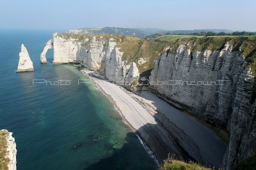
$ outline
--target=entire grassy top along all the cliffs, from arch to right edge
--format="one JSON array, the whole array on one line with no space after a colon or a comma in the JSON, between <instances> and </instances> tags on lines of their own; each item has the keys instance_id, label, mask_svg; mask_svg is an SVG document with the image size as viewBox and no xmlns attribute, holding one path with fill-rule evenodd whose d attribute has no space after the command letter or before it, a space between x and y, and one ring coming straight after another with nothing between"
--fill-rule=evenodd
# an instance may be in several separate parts
<instances>
[{"instance_id":1,"label":"entire grassy top along all the cliffs, from arch to right edge","mask_svg":"<svg viewBox=\"0 0 256 170\"><path fill-rule=\"evenodd\" d=\"M193 35L165 35L160 38L145 39L132 36L115 34L74 34L58 33L57 36L65 39L75 39L84 42L87 49L90 40L95 36L97 41L109 41L113 38L120 51L124 52L122 60L127 63L136 62L140 73L148 71L154 67L154 60L159 57L167 46L170 46L171 53L176 53L177 48L184 42L188 43L191 51L202 52L204 50L221 50L226 43L232 45L233 52L243 55L252 68L253 75L256 75L256 36L193 36ZM88 41L84 41L88 39ZM147 62L138 64L139 59Z\"/></svg>"}]
</instances>

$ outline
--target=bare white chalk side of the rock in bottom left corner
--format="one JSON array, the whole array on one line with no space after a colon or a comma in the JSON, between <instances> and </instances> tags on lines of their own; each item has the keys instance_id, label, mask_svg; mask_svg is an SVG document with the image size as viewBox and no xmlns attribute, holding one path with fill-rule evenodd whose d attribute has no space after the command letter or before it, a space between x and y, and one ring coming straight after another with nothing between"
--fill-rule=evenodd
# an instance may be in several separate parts
<instances>
[{"instance_id":1,"label":"bare white chalk side of the rock in bottom left corner","mask_svg":"<svg viewBox=\"0 0 256 170\"><path fill-rule=\"evenodd\" d=\"M1 138L4 138L6 143L6 148L1 148L3 150L6 150L6 155L5 158L8 160L8 169L9 170L16 170L16 155L17 155L17 150L16 150L16 143L15 139L12 137L12 132L8 132L5 129L0 130L1 132ZM5 161L5 160L0 160L0 161Z\"/></svg>"}]
</instances>

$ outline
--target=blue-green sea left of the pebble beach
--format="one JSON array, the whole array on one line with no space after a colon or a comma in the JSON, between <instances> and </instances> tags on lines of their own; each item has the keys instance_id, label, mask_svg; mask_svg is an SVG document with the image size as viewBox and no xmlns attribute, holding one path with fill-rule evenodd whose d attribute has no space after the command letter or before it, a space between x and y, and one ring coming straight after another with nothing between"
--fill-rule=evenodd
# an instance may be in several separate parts
<instances>
[{"instance_id":1,"label":"blue-green sea left of the pebble beach","mask_svg":"<svg viewBox=\"0 0 256 170\"><path fill-rule=\"evenodd\" d=\"M93 85L77 85L85 79L82 73L52 66L52 51L48 64L39 63L51 36L52 31L0 33L0 129L13 132L17 169L156 169L113 104ZM15 73L21 43L34 72ZM33 79L72 81L33 85Z\"/></svg>"}]
</instances>

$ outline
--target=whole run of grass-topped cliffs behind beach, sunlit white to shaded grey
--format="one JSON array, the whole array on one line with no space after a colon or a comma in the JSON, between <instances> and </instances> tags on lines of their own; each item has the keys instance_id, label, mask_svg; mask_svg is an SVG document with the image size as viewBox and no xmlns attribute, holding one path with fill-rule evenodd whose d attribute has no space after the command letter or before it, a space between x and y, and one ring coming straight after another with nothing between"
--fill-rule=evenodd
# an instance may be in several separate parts
<instances>
[{"instance_id":1,"label":"whole run of grass-topped cliffs behind beach, sunlit white to shaded grey","mask_svg":"<svg viewBox=\"0 0 256 170\"><path fill-rule=\"evenodd\" d=\"M228 132L224 169L234 169L256 153L255 68L250 66L255 40L191 38L166 43L55 33L52 41L54 64L80 62L130 90L140 89L140 78L151 74L148 90Z\"/></svg>"}]
</instances>

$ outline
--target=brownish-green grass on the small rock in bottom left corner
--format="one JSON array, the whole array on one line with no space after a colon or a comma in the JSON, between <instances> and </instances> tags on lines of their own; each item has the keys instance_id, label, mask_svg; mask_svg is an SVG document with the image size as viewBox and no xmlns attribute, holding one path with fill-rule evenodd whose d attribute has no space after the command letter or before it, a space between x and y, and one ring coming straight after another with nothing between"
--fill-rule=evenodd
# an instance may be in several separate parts
<instances>
[{"instance_id":1,"label":"brownish-green grass on the small rock in bottom left corner","mask_svg":"<svg viewBox=\"0 0 256 170\"><path fill-rule=\"evenodd\" d=\"M0 169L8 169L9 159L6 158L7 154L7 141L6 136L8 132L0 131Z\"/></svg>"}]
</instances>

